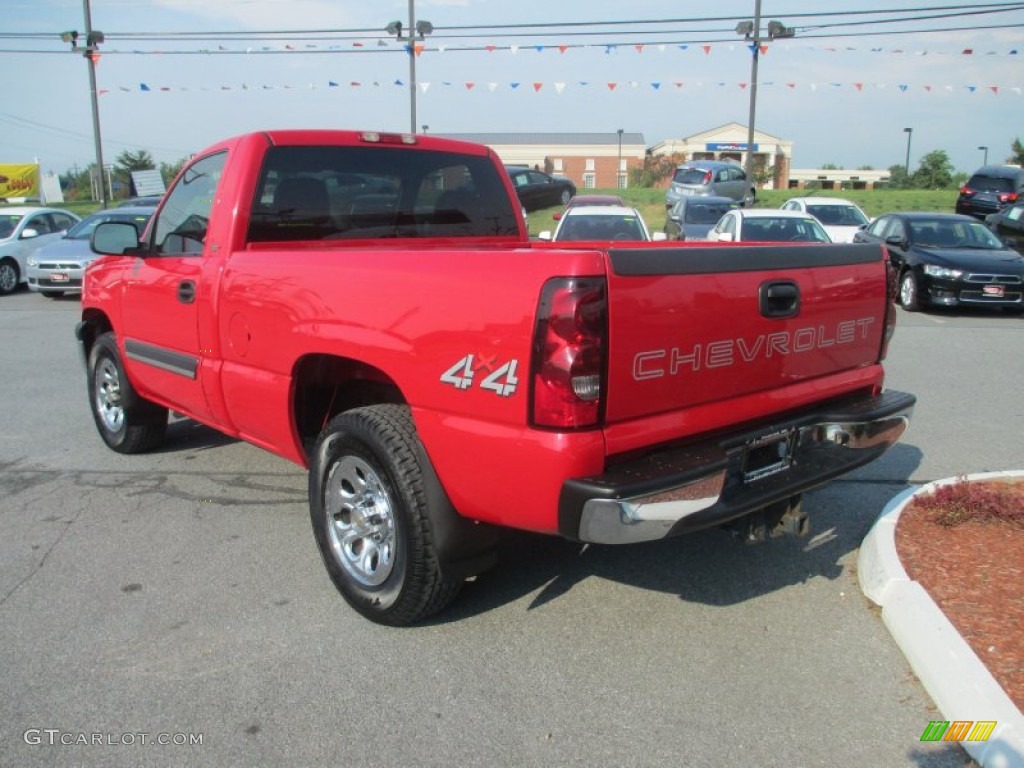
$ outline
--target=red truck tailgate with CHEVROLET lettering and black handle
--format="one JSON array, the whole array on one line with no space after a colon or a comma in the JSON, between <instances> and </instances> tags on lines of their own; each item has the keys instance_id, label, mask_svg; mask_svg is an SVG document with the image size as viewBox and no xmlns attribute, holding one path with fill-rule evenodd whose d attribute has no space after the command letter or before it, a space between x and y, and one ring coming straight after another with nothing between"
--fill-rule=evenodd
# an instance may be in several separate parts
<instances>
[{"instance_id":1,"label":"red truck tailgate with CHEVROLET lettering and black handle","mask_svg":"<svg viewBox=\"0 0 1024 768\"><path fill-rule=\"evenodd\" d=\"M879 359L887 268L878 246L616 248L608 257L608 424L727 407Z\"/></svg>"}]
</instances>

